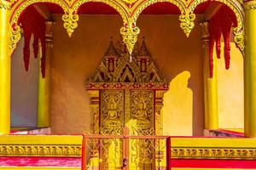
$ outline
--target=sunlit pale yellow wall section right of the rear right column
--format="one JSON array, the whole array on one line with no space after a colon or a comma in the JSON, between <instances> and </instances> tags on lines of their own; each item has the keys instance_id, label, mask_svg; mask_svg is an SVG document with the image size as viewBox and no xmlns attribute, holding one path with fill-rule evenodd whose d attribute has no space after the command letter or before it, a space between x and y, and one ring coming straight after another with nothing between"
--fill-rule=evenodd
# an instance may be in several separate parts
<instances>
[{"instance_id":1,"label":"sunlit pale yellow wall section right of the rear right column","mask_svg":"<svg viewBox=\"0 0 256 170\"><path fill-rule=\"evenodd\" d=\"M224 57L217 63L218 124L220 128L243 128L243 57L234 42L230 47L230 70L225 70Z\"/></svg>"}]
</instances>

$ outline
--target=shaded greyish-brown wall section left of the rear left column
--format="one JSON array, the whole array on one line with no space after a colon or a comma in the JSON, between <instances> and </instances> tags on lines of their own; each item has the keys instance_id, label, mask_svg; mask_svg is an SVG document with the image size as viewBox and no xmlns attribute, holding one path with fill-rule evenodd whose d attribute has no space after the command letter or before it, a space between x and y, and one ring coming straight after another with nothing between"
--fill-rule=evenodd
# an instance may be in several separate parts
<instances>
[{"instance_id":1,"label":"shaded greyish-brown wall section left of the rear left column","mask_svg":"<svg viewBox=\"0 0 256 170\"><path fill-rule=\"evenodd\" d=\"M24 39L11 59L11 126L36 127L38 113L38 59L31 50L29 71L23 65ZM32 49L32 42L31 42Z\"/></svg>"}]
</instances>

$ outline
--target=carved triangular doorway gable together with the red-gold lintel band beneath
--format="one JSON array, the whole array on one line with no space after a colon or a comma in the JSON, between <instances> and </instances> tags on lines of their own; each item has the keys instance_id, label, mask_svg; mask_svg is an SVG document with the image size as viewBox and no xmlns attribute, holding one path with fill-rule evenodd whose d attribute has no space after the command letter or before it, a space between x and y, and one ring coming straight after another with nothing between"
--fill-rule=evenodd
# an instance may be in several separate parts
<instances>
[{"instance_id":1,"label":"carved triangular doorway gable together with the red-gold lintel band beneath","mask_svg":"<svg viewBox=\"0 0 256 170\"><path fill-rule=\"evenodd\" d=\"M149 89L154 87L152 89L155 89L167 87L165 78L160 75L148 53L145 41L140 47L138 44L135 46L136 50L133 52L134 59L132 62L127 59L129 54L124 47L124 43L121 41L117 42L117 45L114 45L113 40L110 41L108 50L96 69L96 73L89 78L88 88Z\"/></svg>"}]
</instances>

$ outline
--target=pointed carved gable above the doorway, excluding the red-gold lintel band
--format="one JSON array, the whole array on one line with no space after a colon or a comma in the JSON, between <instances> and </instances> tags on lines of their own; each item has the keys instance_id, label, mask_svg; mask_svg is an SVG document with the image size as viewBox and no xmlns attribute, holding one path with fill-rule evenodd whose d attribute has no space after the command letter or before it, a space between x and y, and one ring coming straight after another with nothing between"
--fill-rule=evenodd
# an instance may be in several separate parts
<instances>
[{"instance_id":1,"label":"pointed carved gable above the doorway, excluding the red-gold lintel band","mask_svg":"<svg viewBox=\"0 0 256 170\"><path fill-rule=\"evenodd\" d=\"M114 43L111 38L108 50L89 82L166 82L155 66L144 38L141 46L136 44L132 58L130 62L121 40Z\"/></svg>"}]
</instances>

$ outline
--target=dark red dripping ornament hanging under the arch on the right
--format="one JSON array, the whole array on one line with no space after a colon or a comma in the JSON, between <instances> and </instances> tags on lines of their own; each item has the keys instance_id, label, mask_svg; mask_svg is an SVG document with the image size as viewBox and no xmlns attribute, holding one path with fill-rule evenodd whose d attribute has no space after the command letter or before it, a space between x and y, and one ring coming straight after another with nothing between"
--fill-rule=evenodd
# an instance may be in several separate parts
<instances>
[{"instance_id":1,"label":"dark red dripping ornament hanging under the arch on the right","mask_svg":"<svg viewBox=\"0 0 256 170\"><path fill-rule=\"evenodd\" d=\"M224 37L225 68L230 68L230 31L232 26L237 26L236 15L227 6L223 5L218 12L209 20L209 32L212 45L210 46L210 77L213 76L213 47L216 42L216 54L218 59L221 55L221 35Z\"/></svg>"}]
</instances>

